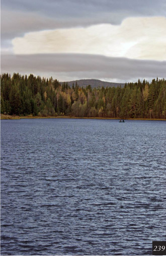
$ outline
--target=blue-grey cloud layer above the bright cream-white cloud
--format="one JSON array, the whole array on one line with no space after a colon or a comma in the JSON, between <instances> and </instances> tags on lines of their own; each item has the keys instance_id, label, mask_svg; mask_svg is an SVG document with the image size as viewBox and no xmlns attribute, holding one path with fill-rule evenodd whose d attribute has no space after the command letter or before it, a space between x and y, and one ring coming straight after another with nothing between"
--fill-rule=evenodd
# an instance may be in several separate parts
<instances>
[{"instance_id":1,"label":"blue-grey cloud layer above the bright cream-white cloud","mask_svg":"<svg viewBox=\"0 0 166 256\"><path fill-rule=\"evenodd\" d=\"M165 16L165 0L2 0L2 40L26 32ZM7 41L6 41L7 42Z\"/></svg>"}]
</instances>

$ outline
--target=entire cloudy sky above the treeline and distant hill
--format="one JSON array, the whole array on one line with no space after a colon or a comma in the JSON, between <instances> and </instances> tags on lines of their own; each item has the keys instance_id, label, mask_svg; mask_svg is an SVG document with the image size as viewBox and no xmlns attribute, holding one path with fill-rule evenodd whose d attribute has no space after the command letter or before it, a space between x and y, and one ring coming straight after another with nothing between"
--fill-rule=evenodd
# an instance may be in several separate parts
<instances>
[{"instance_id":1,"label":"entire cloudy sky above the treeline and distant hill","mask_svg":"<svg viewBox=\"0 0 166 256\"><path fill-rule=\"evenodd\" d=\"M166 0L2 0L1 74L166 76Z\"/></svg>"}]
</instances>

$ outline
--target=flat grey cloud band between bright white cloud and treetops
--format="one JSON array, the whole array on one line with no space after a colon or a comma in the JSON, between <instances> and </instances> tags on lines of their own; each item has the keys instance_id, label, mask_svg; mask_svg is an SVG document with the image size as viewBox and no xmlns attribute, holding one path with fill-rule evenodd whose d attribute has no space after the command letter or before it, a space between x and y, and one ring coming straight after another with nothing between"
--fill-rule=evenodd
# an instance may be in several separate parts
<instances>
[{"instance_id":1,"label":"flat grey cloud band between bright white cloud and treetops","mask_svg":"<svg viewBox=\"0 0 166 256\"><path fill-rule=\"evenodd\" d=\"M2 55L1 72L52 76L59 81L104 79L128 82L165 77L166 61L83 54Z\"/></svg>"}]
</instances>

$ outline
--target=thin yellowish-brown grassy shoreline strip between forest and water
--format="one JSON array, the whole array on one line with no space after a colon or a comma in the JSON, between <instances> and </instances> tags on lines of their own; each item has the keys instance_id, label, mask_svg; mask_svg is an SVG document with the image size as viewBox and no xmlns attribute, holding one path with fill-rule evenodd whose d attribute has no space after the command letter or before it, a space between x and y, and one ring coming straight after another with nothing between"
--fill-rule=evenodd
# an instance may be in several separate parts
<instances>
[{"instance_id":1,"label":"thin yellowish-brown grassy shoreline strip between forest and water","mask_svg":"<svg viewBox=\"0 0 166 256\"><path fill-rule=\"evenodd\" d=\"M33 116L33 115L4 115L1 114L1 120L19 120L19 119L46 119L46 118L66 118L66 119L103 119L103 120L122 120L123 118L117 117L76 117L76 116ZM145 121L166 121L166 119L157 118L126 118L124 120L145 120Z\"/></svg>"}]
</instances>

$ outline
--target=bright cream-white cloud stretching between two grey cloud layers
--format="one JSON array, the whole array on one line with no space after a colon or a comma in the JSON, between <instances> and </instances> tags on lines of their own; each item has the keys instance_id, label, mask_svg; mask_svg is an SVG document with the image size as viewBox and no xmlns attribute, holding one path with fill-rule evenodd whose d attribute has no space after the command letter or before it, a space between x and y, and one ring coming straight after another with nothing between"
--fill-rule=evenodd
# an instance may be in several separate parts
<instances>
[{"instance_id":1,"label":"bright cream-white cloud stretching between two grey cloud layers","mask_svg":"<svg viewBox=\"0 0 166 256\"><path fill-rule=\"evenodd\" d=\"M164 17L133 17L121 25L30 32L12 42L15 54L83 53L165 60L165 31Z\"/></svg>"}]
</instances>

